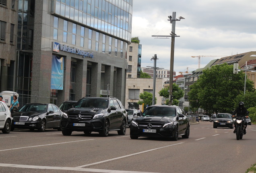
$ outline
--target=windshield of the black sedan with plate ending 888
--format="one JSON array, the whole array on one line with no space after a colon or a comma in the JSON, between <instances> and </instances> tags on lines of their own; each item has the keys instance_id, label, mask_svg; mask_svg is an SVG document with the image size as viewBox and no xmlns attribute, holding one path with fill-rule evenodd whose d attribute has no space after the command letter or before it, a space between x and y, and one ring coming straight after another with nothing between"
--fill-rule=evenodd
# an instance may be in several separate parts
<instances>
[{"instance_id":1,"label":"windshield of the black sedan with plate ending 888","mask_svg":"<svg viewBox=\"0 0 256 173\"><path fill-rule=\"evenodd\" d=\"M143 112L143 117L161 116L161 117L175 117L175 108L173 107L148 107Z\"/></svg>"}]
</instances>

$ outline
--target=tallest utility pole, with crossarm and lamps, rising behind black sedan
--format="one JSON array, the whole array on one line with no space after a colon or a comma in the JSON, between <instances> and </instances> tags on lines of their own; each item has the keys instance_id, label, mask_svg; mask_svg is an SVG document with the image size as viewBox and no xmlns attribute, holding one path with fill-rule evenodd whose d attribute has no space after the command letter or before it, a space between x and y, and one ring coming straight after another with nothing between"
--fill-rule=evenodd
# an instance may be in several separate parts
<instances>
[{"instance_id":1,"label":"tallest utility pole, with crossarm and lamps, rising behind black sedan","mask_svg":"<svg viewBox=\"0 0 256 173\"><path fill-rule=\"evenodd\" d=\"M168 20L172 24L171 26L171 36L156 36L158 37L171 37L171 57L170 57L170 79L169 79L169 105L172 105L173 95L172 95L172 81L173 81L173 62L174 62L174 41L177 35L175 34L175 22L180 21L181 19L185 19L180 16L179 19L176 19L176 12L172 12L172 16L168 16ZM179 36L178 36L179 37Z\"/></svg>"}]
</instances>

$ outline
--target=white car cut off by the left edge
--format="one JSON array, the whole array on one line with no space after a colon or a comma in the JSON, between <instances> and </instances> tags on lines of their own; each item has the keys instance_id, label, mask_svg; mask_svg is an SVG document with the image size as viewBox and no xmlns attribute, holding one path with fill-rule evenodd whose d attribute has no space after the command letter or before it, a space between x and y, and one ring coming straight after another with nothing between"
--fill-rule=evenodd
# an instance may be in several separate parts
<instances>
[{"instance_id":1,"label":"white car cut off by the left edge","mask_svg":"<svg viewBox=\"0 0 256 173\"><path fill-rule=\"evenodd\" d=\"M0 130L3 133L10 133L12 125L12 116L7 105L0 101Z\"/></svg>"}]
</instances>

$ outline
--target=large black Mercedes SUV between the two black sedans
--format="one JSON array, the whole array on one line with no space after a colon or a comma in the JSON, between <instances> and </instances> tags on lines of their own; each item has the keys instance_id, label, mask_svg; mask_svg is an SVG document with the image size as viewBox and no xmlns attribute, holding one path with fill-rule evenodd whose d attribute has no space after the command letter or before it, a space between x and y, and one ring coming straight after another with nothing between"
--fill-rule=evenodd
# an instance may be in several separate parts
<instances>
[{"instance_id":1,"label":"large black Mercedes SUV between the two black sedans","mask_svg":"<svg viewBox=\"0 0 256 173\"><path fill-rule=\"evenodd\" d=\"M126 110L115 97L84 97L61 119L63 135L71 135L72 131L83 131L86 135L99 132L103 137L109 131L125 135L126 125Z\"/></svg>"}]
</instances>

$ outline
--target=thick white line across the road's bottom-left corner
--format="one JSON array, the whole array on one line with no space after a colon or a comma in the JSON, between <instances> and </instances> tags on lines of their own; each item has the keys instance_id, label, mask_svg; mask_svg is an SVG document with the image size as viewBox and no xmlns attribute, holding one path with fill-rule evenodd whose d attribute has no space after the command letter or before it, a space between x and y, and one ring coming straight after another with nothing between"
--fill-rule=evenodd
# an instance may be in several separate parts
<instances>
[{"instance_id":1,"label":"thick white line across the road's bottom-left corner","mask_svg":"<svg viewBox=\"0 0 256 173\"><path fill-rule=\"evenodd\" d=\"M153 173L153 172L141 172L141 171L118 171L107 169L91 169L91 168L78 168L78 167L50 167L50 166L36 166L36 165L17 165L0 163L0 167L17 167L28 169L54 169L54 170L68 170L68 171L84 171L84 172L97 172L97 173Z\"/></svg>"}]
</instances>

